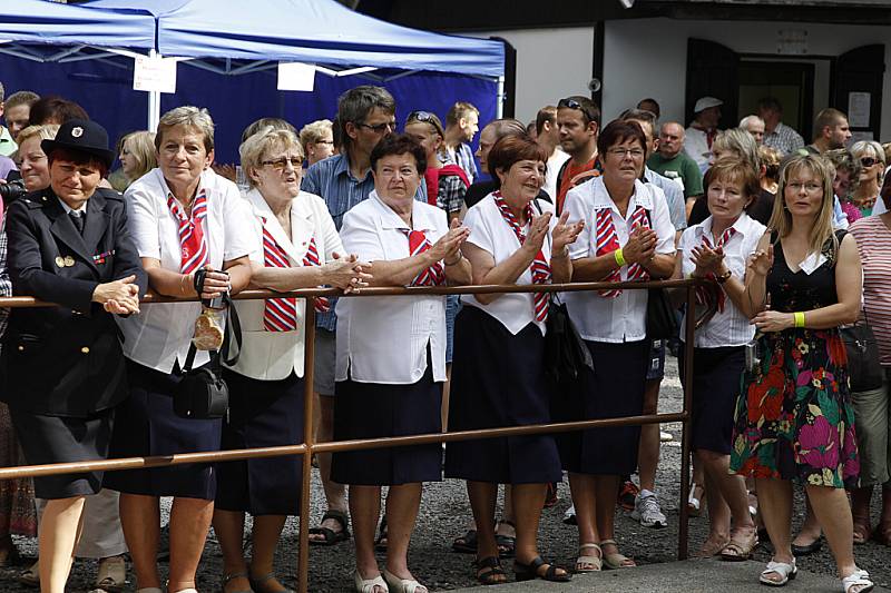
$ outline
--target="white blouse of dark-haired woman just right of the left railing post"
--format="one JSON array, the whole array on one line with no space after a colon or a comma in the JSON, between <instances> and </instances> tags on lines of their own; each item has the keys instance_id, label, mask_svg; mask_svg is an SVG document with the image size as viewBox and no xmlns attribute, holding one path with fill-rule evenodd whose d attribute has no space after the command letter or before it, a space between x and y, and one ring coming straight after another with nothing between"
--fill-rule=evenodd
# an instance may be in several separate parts
<instances>
[{"instance_id":1,"label":"white blouse of dark-haired woman just right of the left railing post","mask_svg":"<svg viewBox=\"0 0 891 593\"><path fill-rule=\"evenodd\" d=\"M372 191L343 217L341 239L364 261L409 257L403 229L423 230L433 244L449 231L446 213L413 201L412 229ZM446 380L446 297L389 296L337 299L335 380L411 385L427 372Z\"/></svg>"}]
</instances>

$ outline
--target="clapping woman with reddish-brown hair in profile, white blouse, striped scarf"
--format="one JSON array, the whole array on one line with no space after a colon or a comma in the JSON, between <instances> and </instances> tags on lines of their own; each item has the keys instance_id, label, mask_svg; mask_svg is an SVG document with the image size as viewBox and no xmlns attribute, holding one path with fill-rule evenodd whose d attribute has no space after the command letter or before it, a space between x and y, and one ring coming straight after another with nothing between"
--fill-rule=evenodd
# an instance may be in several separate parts
<instances>
[{"instance_id":1,"label":"clapping woman with reddish-brown hair in profile, white blouse, striped scarf","mask_svg":"<svg viewBox=\"0 0 891 593\"><path fill-rule=\"evenodd\" d=\"M537 200L547 155L528 136L508 136L488 155L499 189L467 214L464 251L474 284L550 284L570 275L567 245L584 226L559 221ZM550 422L545 378L547 293L467 295L454 332L449 427L495 428ZM512 484L518 580L569 581L569 573L538 553L538 522L547 484L559 482L560 458L550 435L450 443L446 475L467 480L477 530L477 580L507 577L498 557L495 504L498 484ZM483 527L484 526L484 527Z\"/></svg>"}]
</instances>

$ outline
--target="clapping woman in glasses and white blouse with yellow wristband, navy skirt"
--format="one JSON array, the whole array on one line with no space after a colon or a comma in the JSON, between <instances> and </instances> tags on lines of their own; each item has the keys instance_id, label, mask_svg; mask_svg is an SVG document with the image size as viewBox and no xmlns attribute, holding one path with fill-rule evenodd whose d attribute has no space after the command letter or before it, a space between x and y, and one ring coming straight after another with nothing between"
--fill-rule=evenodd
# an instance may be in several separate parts
<instances>
[{"instance_id":1,"label":"clapping woman in glasses and white blouse with yellow wristband, navy skirt","mask_svg":"<svg viewBox=\"0 0 891 593\"><path fill-rule=\"evenodd\" d=\"M570 247L572 279L626 281L667 278L674 269L675 228L662 194L640 181L646 137L634 121L613 121L597 139L601 177L567 194L569 221L585 229ZM649 344L646 290L600 290L566 295L569 315L594 358L579 391L578 419L639 415ZM564 470L579 532L576 570L634 566L614 540L619 476L637 467L640 427L595 428L560 437Z\"/></svg>"}]
</instances>

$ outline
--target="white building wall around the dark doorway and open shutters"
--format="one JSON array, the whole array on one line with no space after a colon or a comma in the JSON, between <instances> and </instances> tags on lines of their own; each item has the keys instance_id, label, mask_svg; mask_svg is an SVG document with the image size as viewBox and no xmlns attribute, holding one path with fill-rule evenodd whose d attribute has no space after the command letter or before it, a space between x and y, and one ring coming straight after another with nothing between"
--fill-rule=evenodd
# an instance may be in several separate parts
<instances>
[{"instance_id":1,"label":"white building wall around the dark doorway and open shutters","mask_svg":"<svg viewBox=\"0 0 891 593\"><path fill-rule=\"evenodd\" d=\"M763 21L681 21L637 19L607 21L604 39L604 119L616 117L644 97L655 97L663 121L684 118L687 39L722 43L740 53L780 56L777 31L807 31L807 55L839 56L860 46L885 45L885 63L891 65L891 28ZM789 56L803 61L805 56ZM519 59L519 57L518 57ZM519 71L519 70L518 70ZM829 97L820 87L828 75L817 71L814 112L826 107ZM891 72L885 72L882 91L881 139L891 139Z\"/></svg>"}]
</instances>

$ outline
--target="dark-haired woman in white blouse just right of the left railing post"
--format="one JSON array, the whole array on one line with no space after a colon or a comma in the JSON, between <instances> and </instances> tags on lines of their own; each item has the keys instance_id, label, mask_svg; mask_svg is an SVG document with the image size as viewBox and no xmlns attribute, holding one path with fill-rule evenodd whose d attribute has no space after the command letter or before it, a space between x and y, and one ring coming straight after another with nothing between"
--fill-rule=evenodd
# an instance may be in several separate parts
<instances>
[{"instance_id":1,"label":"dark-haired woman in white blouse just right of the left railing post","mask_svg":"<svg viewBox=\"0 0 891 593\"><path fill-rule=\"evenodd\" d=\"M449 228L444 211L414 200L425 160L408 136L382 139L371 152L374 190L343 217L344 248L371 261L372 286L470 281L468 229L458 220ZM342 298L336 312L334 439L441 432L446 297ZM421 483L441 480L441 463L439 444L334 454L331 477L350 485L359 593L427 593L407 555ZM383 577L374 557L381 486L390 486Z\"/></svg>"}]
</instances>

